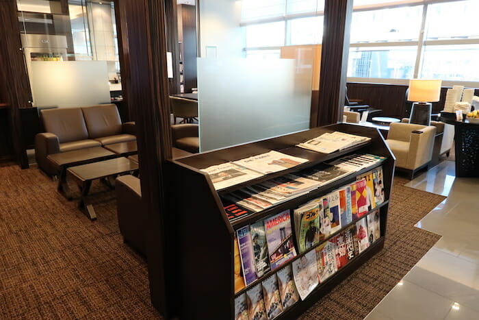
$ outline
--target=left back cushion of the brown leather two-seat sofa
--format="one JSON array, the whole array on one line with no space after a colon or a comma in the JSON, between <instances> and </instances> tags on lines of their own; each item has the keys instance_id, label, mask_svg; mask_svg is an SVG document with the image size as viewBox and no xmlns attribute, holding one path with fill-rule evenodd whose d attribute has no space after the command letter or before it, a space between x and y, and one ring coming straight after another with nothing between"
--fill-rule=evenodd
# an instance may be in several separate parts
<instances>
[{"instance_id":1,"label":"left back cushion of the brown leather two-seat sofa","mask_svg":"<svg viewBox=\"0 0 479 320\"><path fill-rule=\"evenodd\" d=\"M60 143L88 139L81 108L59 108L41 111L46 132L58 137Z\"/></svg>"}]
</instances>

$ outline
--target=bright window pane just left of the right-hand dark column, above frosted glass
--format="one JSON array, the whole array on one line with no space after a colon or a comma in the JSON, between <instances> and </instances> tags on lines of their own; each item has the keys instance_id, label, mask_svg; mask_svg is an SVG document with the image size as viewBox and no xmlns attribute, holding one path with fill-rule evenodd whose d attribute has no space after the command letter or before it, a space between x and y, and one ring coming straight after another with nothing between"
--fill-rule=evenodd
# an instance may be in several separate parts
<instances>
[{"instance_id":1,"label":"bright window pane just left of the right-hand dark column, above frosted glass","mask_svg":"<svg viewBox=\"0 0 479 320\"><path fill-rule=\"evenodd\" d=\"M291 45L314 45L322 43L323 16L293 19L289 21Z\"/></svg>"}]
</instances>

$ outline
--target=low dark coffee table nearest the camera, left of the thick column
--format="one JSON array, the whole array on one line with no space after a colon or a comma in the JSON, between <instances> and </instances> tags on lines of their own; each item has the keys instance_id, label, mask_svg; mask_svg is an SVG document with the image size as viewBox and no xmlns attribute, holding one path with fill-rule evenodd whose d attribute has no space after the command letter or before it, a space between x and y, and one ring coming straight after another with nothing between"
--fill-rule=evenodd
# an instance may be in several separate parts
<instances>
[{"instance_id":1,"label":"low dark coffee table nearest the camera, left of the thick column","mask_svg":"<svg viewBox=\"0 0 479 320\"><path fill-rule=\"evenodd\" d=\"M138 163L122 157L70 167L67 171L81 188L79 208L86 213L90 220L95 220L96 213L90 201L91 196L88 195L92 181L136 172L138 171Z\"/></svg>"}]
</instances>

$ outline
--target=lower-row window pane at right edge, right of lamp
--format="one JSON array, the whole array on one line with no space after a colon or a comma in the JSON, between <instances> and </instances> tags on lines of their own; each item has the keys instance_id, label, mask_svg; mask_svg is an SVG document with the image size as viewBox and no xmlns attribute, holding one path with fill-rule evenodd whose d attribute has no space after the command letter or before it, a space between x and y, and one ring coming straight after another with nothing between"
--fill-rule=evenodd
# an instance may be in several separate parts
<instances>
[{"instance_id":1,"label":"lower-row window pane at right edge, right of lamp","mask_svg":"<svg viewBox=\"0 0 479 320\"><path fill-rule=\"evenodd\" d=\"M479 81L478 57L479 45L426 46L421 77Z\"/></svg>"}]
</instances>

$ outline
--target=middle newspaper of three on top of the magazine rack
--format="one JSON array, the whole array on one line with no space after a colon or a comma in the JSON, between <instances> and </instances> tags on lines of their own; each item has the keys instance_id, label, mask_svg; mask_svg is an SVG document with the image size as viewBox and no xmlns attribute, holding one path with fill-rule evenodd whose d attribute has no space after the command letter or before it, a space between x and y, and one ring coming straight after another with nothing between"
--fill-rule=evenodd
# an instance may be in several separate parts
<instances>
[{"instance_id":1,"label":"middle newspaper of three on top of the magazine rack","mask_svg":"<svg viewBox=\"0 0 479 320\"><path fill-rule=\"evenodd\" d=\"M270 151L250 158L237 160L233 163L239 165L240 167L245 167L266 175L268 173L296 167L297 165L305 162L308 162L308 160L289 156L278 151Z\"/></svg>"}]
</instances>

